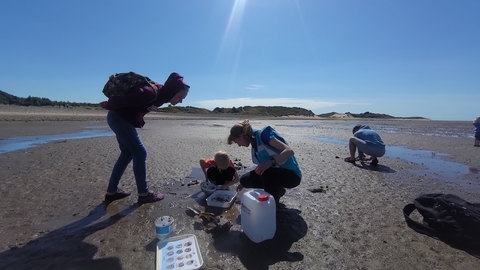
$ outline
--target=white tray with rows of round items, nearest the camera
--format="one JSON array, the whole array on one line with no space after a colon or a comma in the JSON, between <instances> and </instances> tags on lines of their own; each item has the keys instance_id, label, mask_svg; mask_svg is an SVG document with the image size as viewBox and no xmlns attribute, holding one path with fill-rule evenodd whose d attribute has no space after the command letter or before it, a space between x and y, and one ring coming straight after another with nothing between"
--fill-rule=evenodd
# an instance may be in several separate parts
<instances>
[{"instance_id":1,"label":"white tray with rows of round items, nearest the camera","mask_svg":"<svg viewBox=\"0 0 480 270\"><path fill-rule=\"evenodd\" d=\"M203 265L202 254L194 234L173 236L157 244L156 270L199 269Z\"/></svg>"}]
</instances>

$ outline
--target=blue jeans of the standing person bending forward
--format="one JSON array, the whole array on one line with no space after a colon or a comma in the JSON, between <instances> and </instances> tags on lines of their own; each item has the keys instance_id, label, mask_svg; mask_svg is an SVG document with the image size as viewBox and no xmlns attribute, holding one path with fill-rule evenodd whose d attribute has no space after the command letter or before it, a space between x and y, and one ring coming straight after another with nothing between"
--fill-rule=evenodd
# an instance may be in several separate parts
<instances>
[{"instance_id":1,"label":"blue jeans of the standing person bending forward","mask_svg":"<svg viewBox=\"0 0 480 270\"><path fill-rule=\"evenodd\" d=\"M121 151L115 166L113 166L107 192L117 192L120 178L122 178L125 169L132 160L137 191L139 194L148 192L147 149L140 140L137 130L114 111L108 112L107 123L117 136Z\"/></svg>"}]
</instances>

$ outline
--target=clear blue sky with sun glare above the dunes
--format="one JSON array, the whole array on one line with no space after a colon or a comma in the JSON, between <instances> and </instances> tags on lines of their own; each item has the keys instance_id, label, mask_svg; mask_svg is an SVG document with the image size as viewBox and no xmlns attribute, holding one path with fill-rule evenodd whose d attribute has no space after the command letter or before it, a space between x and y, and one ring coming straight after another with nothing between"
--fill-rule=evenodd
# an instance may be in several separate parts
<instances>
[{"instance_id":1,"label":"clear blue sky with sun glare above the dunes","mask_svg":"<svg viewBox=\"0 0 480 270\"><path fill-rule=\"evenodd\" d=\"M0 90L101 102L112 73L190 84L181 106L480 115L478 0L0 1Z\"/></svg>"}]
</instances>

